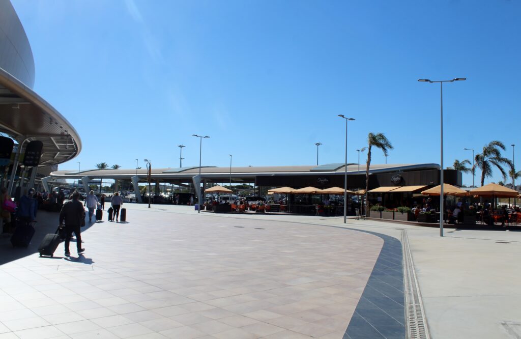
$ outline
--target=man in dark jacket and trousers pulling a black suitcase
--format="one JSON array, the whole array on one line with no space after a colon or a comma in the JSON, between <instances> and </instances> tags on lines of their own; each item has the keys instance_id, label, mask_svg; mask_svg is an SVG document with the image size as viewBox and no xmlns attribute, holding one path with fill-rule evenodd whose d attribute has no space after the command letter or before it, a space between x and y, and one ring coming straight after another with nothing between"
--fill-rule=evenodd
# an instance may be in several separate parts
<instances>
[{"instance_id":1,"label":"man in dark jacket and trousers pulling a black suitcase","mask_svg":"<svg viewBox=\"0 0 521 339\"><path fill-rule=\"evenodd\" d=\"M83 253L85 251L84 248L81 248L81 222L85 219L85 210L83 209L83 204L79 201L80 193L74 192L72 193L72 199L68 200L60 212L60 225L62 225L65 221L65 231L67 232L67 236L65 238L65 255L70 256L69 251L69 243L70 237L72 236L72 232L76 234L76 246L78 248L78 254Z\"/></svg>"}]
</instances>

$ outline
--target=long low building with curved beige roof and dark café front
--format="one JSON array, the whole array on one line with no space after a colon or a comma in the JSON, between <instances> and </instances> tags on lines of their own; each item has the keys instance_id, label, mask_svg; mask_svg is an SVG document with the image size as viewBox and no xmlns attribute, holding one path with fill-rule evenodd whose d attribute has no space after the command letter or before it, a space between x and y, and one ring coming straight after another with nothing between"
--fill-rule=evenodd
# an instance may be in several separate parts
<instances>
[{"instance_id":1,"label":"long low building with curved beige roof and dark caf\u00e9 front","mask_svg":"<svg viewBox=\"0 0 521 339\"><path fill-rule=\"evenodd\" d=\"M247 166L213 167L199 166L182 168L152 168L151 181L160 184L193 185L207 187L208 184L252 184L256 187L316 188L344 187L345 170L349 190L365 188L365 168L358 170L358 164L327 164L319 166ZM201 174L200 174L201 173ZM78 171L55 171L44 178L44 183L52 178L81 179L85 187L92 179L115 179L131 181L136 195L141 199L139 183L147 182L146 169L91 169ZM462 174L454 169L444 170L446 184L461 186ZM440 184L438 164L371 164L369 168L369 189L382 188L402 193L415 193ZM49 189L47 187L46 189Z\"/></svg>"}]
</instances>

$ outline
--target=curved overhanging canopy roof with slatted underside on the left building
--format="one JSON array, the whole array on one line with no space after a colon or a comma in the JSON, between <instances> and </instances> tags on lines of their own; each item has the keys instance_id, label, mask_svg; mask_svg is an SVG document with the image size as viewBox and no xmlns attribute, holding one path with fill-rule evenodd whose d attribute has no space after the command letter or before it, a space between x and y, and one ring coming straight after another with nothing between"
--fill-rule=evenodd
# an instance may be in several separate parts
<instances>
[{"instance_id":1,"label":"curved overhanging canopy roof with slatted underside on the left building","mask_svg":"<svg viewBox=\"0 0 521 339\"><path fill-rule=\"evenodd\" d=\"M18 141L43 142L40 166L56 165L81 151L78 132L56 109L0 68L0 132ZM24 144L23 146L26 146Z\"/></svg>"}]
</instances>

